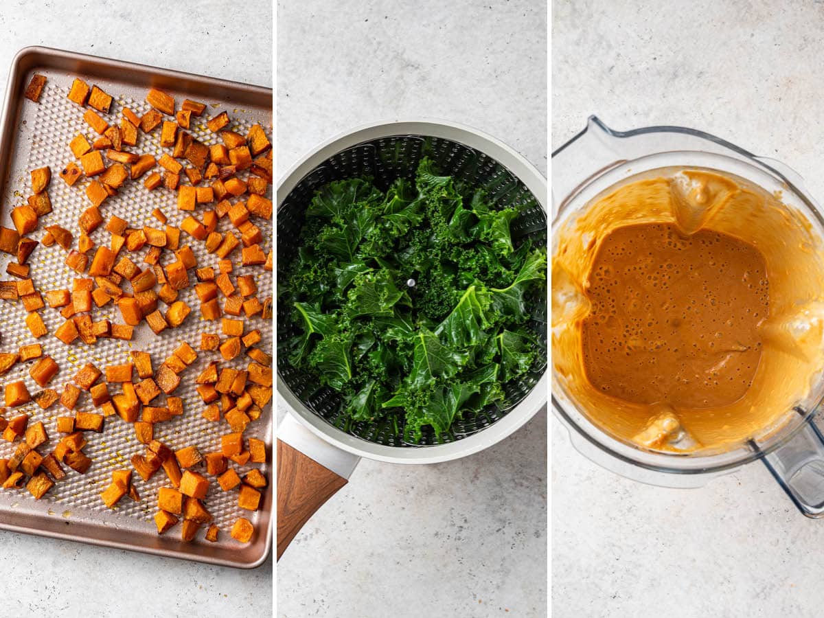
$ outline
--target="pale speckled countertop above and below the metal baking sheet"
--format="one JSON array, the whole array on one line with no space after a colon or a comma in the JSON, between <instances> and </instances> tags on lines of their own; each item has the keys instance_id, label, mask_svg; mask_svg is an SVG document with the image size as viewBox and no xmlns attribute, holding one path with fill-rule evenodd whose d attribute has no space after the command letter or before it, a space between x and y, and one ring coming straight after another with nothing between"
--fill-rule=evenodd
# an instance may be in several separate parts
<instances>
[{"instance_id":1,"label":"pale speckled countertop above and below the metal baking sheet","mask_svg":"<svg viewBox=\"0 0 824 618\"><path fill-rule=\"evenodd\" d=\"M271 2L231 11L218 0L4 0L0 92L16 52L35 44L270 87ZM270 616L272 570L271 559L243 571L0 531L0 571L14 582L0 618Z\"/></svg>"}]
</instances>

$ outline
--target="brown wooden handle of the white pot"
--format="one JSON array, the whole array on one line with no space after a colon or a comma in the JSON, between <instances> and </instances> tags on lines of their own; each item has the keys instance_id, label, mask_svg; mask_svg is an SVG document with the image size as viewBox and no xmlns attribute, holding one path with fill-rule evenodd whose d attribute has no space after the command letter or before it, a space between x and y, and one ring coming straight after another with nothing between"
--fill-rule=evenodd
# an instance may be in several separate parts
<instances>
[{"instance_id":1,"label":"brown wooden handle of the white pot","mask_svg":"<svg viewBox=\"0 0 824 618\"><path fill-rule=\"evenodd\" d=\"M278 440L278 559L309 517L346 483L343 476Z\"/></svg>"}]
</instances>

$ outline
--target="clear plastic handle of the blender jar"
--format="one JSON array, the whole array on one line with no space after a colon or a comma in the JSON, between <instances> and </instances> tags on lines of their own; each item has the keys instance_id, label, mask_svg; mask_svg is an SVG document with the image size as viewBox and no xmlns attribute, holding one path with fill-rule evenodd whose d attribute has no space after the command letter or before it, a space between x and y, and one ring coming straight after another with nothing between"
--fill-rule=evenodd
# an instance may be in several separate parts
<instances>
[{"instance_id":1,"label":"clear plastic handle of the blender jar","mask_svg":"<svg viewBox=\"0 0 824 618\"><path fill-rule=\"evenodd\" d=\"M786 444L763 457L764 465L807 517L824 517L824 435L814 414Z\"/></svg>"}]
</instances>

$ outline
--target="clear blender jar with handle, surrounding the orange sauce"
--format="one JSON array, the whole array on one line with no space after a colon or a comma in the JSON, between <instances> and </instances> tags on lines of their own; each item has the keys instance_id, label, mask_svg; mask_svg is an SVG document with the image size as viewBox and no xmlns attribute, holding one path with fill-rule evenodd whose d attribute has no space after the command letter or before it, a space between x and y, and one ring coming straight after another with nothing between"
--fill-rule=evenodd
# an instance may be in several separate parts
<instances>
[{"instance_id":1,"label":"clear blender jar with handle, surrounding the orange sauce","mask_svg":"<svg viewBox=\"0 0 824 618\"><path fill-rule=\"evenodd\" d=\"M694 129L662 126L620 132L592 116L581 133L552 155L553 255L559 228L599 194L644 171L673 167L719 171L771 194L780 192L781 201L803 216L813 235L824 238L822 211L788 166ZM562 305L564 297L553 284L553 339L558 326L556 302ZM689 488L761 460L808 517L824 516L824 437L814 423L822 398L824 379L818 375L808 391L780 414L780 422L746 442L723 452L661 452L616 438L595 424L570 395L555 365L552 374L555 415L578 452L597 464L651 485Z\"/></svg>"}]
</instances>

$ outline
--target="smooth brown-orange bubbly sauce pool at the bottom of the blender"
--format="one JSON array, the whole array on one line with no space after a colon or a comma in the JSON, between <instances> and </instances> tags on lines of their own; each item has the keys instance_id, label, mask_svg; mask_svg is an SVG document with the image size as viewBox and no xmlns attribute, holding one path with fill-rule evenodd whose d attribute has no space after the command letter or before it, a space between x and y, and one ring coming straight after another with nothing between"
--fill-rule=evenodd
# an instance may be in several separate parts
<instances>
[{"instance_id":1,"label":"smooth brown-orange bubbly sauce pool at the bottom of the blender","mask_svg":"<svg viewBox=\"0 0 824 618\"><path fill-rule=\"evenodd\" d=\"M618 227L585 286L583 362L592 386L634 403L732 404L761 357L764 257L733 236L672 224Z\"/></svg>"}]
</instances>

